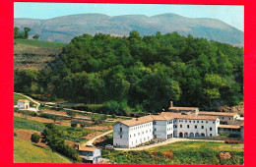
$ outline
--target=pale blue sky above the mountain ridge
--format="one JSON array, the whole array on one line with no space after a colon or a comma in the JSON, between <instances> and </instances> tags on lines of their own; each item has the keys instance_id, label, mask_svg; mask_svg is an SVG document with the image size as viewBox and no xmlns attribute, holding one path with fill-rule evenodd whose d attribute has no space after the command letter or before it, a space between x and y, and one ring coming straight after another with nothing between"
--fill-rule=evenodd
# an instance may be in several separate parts
<instances>
[{"instance_id":1,"label":"pale blue sky above the mountain ridge","mask_svg":"<svg viewBox=\"0 0 256 167\"><path fill-rule=\"evenodd\" d=\"M156 5L15 2L14 18L51 19L66 15L100 13L108 16L174 13L188 18L212 18L244 29L244 7L238 5Z\"/></svg>"}]
</instances>

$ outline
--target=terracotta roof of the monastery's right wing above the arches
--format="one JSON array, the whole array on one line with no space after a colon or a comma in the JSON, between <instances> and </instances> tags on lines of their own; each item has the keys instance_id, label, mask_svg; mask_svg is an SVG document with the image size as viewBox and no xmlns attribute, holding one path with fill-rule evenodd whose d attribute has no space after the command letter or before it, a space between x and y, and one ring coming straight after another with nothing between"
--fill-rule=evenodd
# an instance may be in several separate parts
<instances>
[{"instance_id":1,"label":"terracotta roof of the monastery's right wing above the arches","mask_svg":"<svg viewBox=\"0 0 256 167\"><path fill-rule=\"evenodd\" d=\"M161 112L161 116L173 117L177 119L186 119L186 120L217 120L217 116L199 116L195 114L182 115L181 113L172 113L172 112Z\"/></svg>"}]
</instances>

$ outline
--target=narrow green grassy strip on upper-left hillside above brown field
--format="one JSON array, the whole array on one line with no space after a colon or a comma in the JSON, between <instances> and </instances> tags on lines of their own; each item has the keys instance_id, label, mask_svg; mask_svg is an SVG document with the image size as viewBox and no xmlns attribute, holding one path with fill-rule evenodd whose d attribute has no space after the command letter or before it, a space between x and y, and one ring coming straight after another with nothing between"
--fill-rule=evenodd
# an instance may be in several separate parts
<instances>
[{"instance_id":1,"label":"narrow green grassy strip on upper-left hillside above brown field","mask_svg":"<svg viewBox=\"0 0 256 167\"><path fill-rule=\"evenodd\" d=\"M32 45L36 47L54 47L54 48L62 48L66 43L60 42L50 42L50 41L42 41L42 40L32 40L32 39L15 39L15 43L24 44L24 45Z\"/></svg>"}]
</instances>

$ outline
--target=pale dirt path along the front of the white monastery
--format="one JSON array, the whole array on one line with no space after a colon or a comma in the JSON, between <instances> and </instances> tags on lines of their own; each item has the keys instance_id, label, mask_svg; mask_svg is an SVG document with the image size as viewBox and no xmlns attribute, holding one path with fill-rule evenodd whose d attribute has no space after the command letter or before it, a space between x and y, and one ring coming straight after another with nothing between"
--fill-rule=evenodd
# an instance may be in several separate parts
<instances>
[{"instance_id":1,"label":"pale dirt path along the front of the white monastery","mask_svg":"<svg viewBox=\"0 0 256 167\"><path fill-rule=\"evenodd\" d=\"M141 146L141 147L136 147L136 148L114 148L115 150L125 150L125 151L130 151L130 150L145 150L161 145L165 145L168 143L173 143L177 141L213 141L213 142L224 142L224 140L208 140L208 139L179 139L179 138L173 138L173 139L168 139L159 143L151 144L151 145L146 145L146 146Z\"/></svg>"}]
</instances>

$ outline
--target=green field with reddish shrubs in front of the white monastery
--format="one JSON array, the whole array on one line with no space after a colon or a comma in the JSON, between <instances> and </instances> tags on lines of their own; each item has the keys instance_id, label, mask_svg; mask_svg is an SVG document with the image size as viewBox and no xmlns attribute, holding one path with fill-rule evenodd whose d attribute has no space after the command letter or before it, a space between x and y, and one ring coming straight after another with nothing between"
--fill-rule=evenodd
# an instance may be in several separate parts
<instances>
[{"instance_id":1,"label":"green field with reddish shrubs in front of the white monastery","mask_svg":"<svg viewBox=\"0 0 256 167\"><path fill-rule=\"evenodd\" d=\"M164 151L171 151L173 158L165 158ZM229 152L230 159L221 159L220 152ZM102 156L117 164L205 164L242 165L243 145L212 141L180 141L144 151L108 151Z\"/></svg>"}]
</instances>

